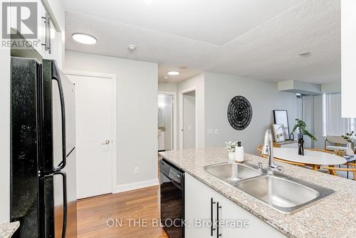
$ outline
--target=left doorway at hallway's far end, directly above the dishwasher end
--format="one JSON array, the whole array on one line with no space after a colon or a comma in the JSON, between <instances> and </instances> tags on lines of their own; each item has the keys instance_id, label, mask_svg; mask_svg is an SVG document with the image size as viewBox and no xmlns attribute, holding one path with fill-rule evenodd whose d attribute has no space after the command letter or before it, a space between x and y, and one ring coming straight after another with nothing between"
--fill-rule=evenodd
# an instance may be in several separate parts
<instances>
[{"instance_id":1,"label":"left doorway at hallway's far end, directly above the dishwasher end","mask_svg":"<svg viewBox=\"0 0 356 238\"><path fill-rule=\"evenodd\" d=\"M174 98L175 93L158 93L158 151L168 151L176 148Z\"/></svg>"}]
</instances>

